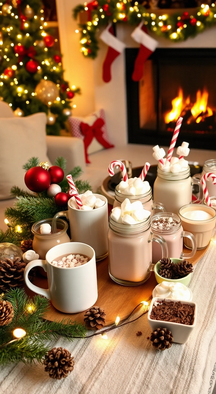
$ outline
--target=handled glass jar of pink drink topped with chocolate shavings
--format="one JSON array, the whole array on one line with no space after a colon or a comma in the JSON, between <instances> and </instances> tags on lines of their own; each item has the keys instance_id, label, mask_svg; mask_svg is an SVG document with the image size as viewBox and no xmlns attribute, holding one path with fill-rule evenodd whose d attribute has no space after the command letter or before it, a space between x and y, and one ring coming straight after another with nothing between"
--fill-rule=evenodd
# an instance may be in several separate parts
<instances>
[{"instance_id":1,"label":"handled glass jar of pink drink topped with chocolate shavings","mask_svg":"<svg viewBox=\"0 0 216 394\"><path fill-rule=\"evenodd\" d=\"M155 223L157 219L161 218L172 218L177 222L176 225L165 227L161 226L159 229L159 225ZM178 215L172 214L171 212L166 212L166 214L155 214L151 217L151 231L154 236L160 235L164 238L168 247L168 257L170 258L191 258L196 253L196 240L191 234L191 232L187 232L183 230L181 225L181 219ZM183 253L183 237L189 238L190 240L190 248L192 247L191 253ZM162 258L161 248L155 243L152 245L152 262L156 264Z\"/></svg>"}]
</instances>

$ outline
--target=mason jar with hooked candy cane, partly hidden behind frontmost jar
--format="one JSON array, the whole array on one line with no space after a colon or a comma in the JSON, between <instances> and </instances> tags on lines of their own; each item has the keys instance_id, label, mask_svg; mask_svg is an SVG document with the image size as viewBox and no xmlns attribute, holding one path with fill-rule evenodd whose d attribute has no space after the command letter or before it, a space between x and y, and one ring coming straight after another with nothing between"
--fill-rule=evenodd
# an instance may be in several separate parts
<instances>
[{"instance_id":1,"label":"mason jar with hooked candy cane, partly hidden behind frontmost jar","mask_svg":"<svg viewBox=\"0 0 216 394\"><path fill-rule=\"evenodd\" d=\"M166 207L163 204L156 203L155 201L153 201L151 188L145 194L140 194L137 196L129 196L126 194L119 193L118 185L117 185L115 188L115 201L113 204L113 208L115 208L116 206L121 206L121 204L126 198L128 198L131 203L134 203L135 201L141 201L143 208L150 211L151 215L153 215L153 210L155 209L159 209L161 212L166 212Z\"/></svg>"}]
</instances>

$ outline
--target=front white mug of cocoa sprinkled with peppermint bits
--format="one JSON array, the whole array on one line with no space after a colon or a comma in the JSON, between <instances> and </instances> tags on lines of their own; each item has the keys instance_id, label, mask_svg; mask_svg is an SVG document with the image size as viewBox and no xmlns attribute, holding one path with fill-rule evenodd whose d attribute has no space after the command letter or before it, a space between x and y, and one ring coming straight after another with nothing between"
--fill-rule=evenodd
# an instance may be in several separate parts
<instances>
[{"instance_id":1,"label":"front white mug of cocoa sprinkled with peppermint bits","mask_svg":"<svg viewBox=\"0 0 216 394\"><path fill-rule=\"evenodd\" d=\"M78 267L62 268L51 264L60 256L70 254L86 255L90 260ZM28 279L31 268L40 266L47 272L49 288L35 286ZM68 242L52 247L46 253L46 260L33 260L24 270L26 285L33 292L48 298L52 305L65 313L78 313L89 309L98 298L95 252L85 243Z\"/></svg>"}]
</instances>

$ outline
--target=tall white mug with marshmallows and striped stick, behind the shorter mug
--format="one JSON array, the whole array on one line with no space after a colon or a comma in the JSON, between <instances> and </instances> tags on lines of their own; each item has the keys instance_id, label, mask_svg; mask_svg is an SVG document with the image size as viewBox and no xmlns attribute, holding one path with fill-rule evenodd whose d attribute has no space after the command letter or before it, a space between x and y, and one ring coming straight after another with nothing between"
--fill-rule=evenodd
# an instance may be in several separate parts
<instances>
[{"instance_id":1,"label":"tall white mug with marshmallows and striped stick, behind the shorter mug","mask_svg":"<svg viewBox=\"0 0 216 394\"><path fill-rule=\"evenodd\" d=\"M58 212L53 219L53 229L55 231L55 221L58 217L66 216L70 221L70 234L73 242L83 242L90 245L96 255L96 261L102 260L108 255L108 205L107 199L101 194L93 193L96 198L105 201L103 206L90 211L77 209L73 206L74 197L68 201L68 211ZM82 197L82 194L80 194Z\"/></svg>"}]
</instances>

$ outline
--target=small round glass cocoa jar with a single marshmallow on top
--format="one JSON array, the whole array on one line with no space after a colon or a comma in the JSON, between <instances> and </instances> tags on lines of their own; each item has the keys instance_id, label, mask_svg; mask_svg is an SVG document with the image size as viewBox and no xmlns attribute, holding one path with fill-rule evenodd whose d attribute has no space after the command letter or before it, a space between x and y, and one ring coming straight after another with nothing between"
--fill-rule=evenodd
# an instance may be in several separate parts
<instances>
[{"instance_id":1,"label":"small round glass cocoa jar with a single marshmallow on top","mask_svg":"<svg viewBox=\"0 0 216 394\"><path fill-rule=\"evenodd\" d=\"M45 260L46 253L54 246L60 245L60 243L70 242L70 238L66 233L68 224L62 219L57 219L57 231L56 233L41 234L40 226L43 223L48 223L52 226L52 219L44 219L35 223L31 227L31 232L34 234L32 243L33 250L39 254L39 258Z\"/></svg>"}]
</instances>

